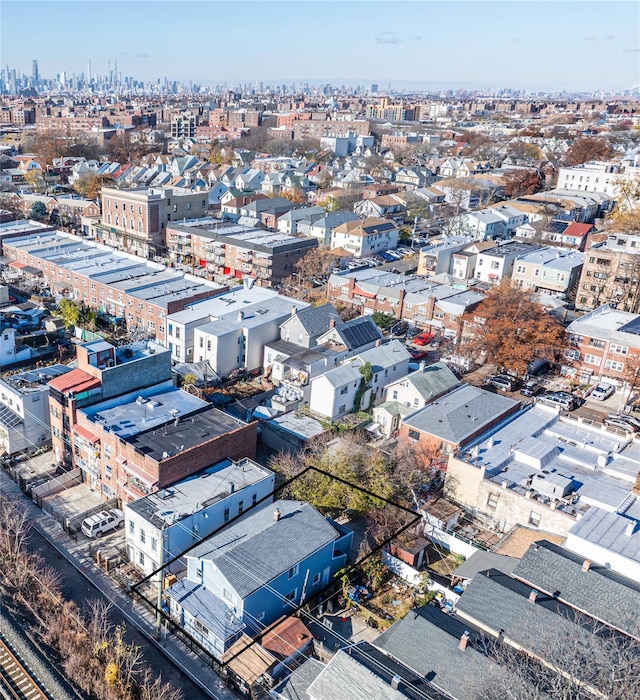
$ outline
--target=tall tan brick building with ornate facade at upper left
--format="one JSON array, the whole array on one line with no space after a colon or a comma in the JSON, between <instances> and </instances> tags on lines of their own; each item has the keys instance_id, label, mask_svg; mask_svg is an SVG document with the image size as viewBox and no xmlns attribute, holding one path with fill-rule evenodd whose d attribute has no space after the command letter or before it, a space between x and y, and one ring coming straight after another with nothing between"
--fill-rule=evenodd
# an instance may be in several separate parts
<instances>
[{"instance_id":1,"label":"tall tan brick building with ornate facade at upper left","mask_svg":"<svg viewBox=\"0 0 640 700\"><path fill-rule=\"evenodd\" d=\"M166 226L171 221L197 219L208 213L208 193L181 187L102 188L103 243L145 258L166 248Z\"/></svg>"}]
</instances>

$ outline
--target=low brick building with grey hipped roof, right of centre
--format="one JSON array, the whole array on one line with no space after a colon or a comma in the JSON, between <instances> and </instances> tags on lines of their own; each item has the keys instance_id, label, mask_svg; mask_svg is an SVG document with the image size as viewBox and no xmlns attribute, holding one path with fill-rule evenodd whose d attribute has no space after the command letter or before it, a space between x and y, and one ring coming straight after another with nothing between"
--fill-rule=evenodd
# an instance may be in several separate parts
<instances>
[{"instance_id":1,"label":"low brick building with grey hipped roof, right of centre","mask_svg":"<svg viewBox=\"0 0 640 700\"><path fill-rule=\"evenodd\" d=\"M517 412L520 402L463 384L402 420L400 439L444 453L464 449Z\"/></svg>"}]
</instances>

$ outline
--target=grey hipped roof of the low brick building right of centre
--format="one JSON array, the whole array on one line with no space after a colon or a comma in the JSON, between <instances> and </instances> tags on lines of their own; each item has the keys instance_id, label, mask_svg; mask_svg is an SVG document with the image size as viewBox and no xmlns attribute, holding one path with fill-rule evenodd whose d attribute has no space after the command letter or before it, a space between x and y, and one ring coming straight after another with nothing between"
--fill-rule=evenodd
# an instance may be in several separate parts
<instances>
[{"instance_id":1,"label":"grey hipped roof of the low brick building right of centre","mask_svg":"<svg viewBox=\"0 0 640 700\"><path fill-rule=\"evenodd\" d=\"M405 425L454 445L512 412L518 401L470 384L449 392L404 420Z\"/></svg>"}]
</instances>

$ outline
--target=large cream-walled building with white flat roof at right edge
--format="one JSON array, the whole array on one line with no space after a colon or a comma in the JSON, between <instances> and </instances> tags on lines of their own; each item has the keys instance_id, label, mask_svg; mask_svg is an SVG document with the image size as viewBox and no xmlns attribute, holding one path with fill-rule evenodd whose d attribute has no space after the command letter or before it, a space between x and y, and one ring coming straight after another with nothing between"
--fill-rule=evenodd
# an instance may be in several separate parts
<instances>
[{"instance_id":1,"label":"large cream-walled building with white flat roof at right edge","mask_svg":"<svg viewBox=\"0 0 640 700\"><path fill-rule=\"evenodd\" d=\"M445 494L487 527L567 536L591 510L629 505L640 471L630 437L540 403L505 418L447 466Z\"/></svg>"}]
</instances>

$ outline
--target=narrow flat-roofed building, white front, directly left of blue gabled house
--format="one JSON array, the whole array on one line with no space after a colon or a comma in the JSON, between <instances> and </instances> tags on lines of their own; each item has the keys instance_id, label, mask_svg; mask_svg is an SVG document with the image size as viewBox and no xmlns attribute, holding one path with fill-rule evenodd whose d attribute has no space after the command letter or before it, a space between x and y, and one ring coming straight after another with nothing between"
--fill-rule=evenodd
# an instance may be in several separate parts
<instances>
[{"instance_id":1,"label":"narrow flat-roofed building, white front, directly left of blue gabled house","mask_svg":"<svg viewBox=\"0 0 640 700\"><path fill-rule=\"evenodd\" d=\"M225 459L125 504L129 561L145 575L179 557L238 513L271 502L275 475L252 459ZM177 565L179 566L179 565ZM169 565L168 574L175 570Z\"/></svg>"}]
</instances>

